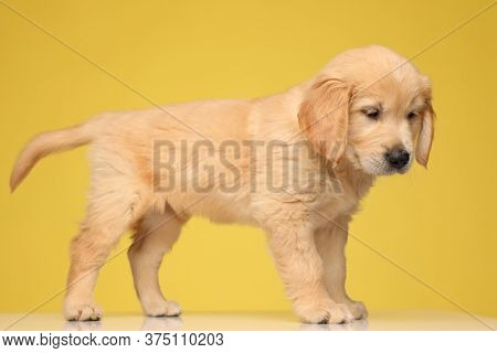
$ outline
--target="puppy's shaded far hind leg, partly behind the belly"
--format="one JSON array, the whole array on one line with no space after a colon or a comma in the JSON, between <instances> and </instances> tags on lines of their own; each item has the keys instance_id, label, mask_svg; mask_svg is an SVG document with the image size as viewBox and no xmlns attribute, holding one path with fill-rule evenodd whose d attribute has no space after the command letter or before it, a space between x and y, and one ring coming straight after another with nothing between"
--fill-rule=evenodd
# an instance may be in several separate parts
<instances>
[{"instance_id":1,"label":"puppy's shaded far hind leg, partly behind the belly","mask_svg":"<svg viewBox=\"0 0 497 353\"><path fill-rule=\"evenodd\" d=\"M162 296L158 271L165 254L178 239L186 221L167 207L165 213L147 213L137 226L128 257L135 289L148 315L176 317L181 313L176 301L166 300Z\"/></svg>"}]
</instances>

